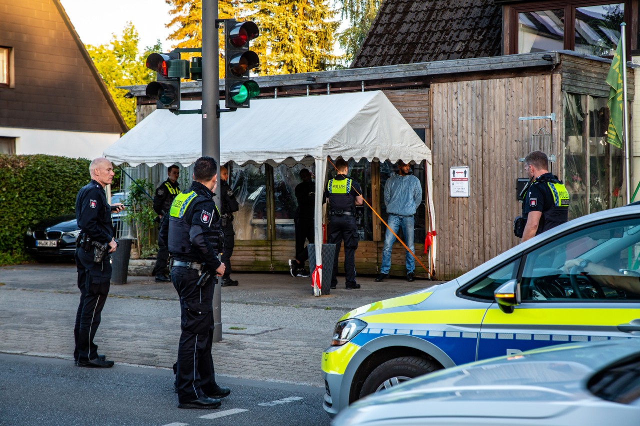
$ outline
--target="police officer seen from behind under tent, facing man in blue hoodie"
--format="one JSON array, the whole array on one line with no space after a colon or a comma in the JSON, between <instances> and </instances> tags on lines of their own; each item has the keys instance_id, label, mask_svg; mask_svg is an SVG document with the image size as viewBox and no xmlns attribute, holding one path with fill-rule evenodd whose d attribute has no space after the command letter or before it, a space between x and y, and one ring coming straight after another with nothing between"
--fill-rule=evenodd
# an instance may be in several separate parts
<instances>
[{"instance_id":1,"label":"police officer seen from behind under tent, facing man in blue hoodie","mask_svg":"<svg viewBox=\"0 0 640 426\"><path fill-rule=\"evenodd\" d=\"M331 288L338 284L338 253L344 240L344 274L346 288L360 288L356 283L355 250L358 248L358 226L356 205L362 205L362 189L355 180L348 178L349 165L343 159L335 161L337 177L330 179L324 191L324 200L329 202L328 242L335 244Z\"/></svg>"}]
</instances>

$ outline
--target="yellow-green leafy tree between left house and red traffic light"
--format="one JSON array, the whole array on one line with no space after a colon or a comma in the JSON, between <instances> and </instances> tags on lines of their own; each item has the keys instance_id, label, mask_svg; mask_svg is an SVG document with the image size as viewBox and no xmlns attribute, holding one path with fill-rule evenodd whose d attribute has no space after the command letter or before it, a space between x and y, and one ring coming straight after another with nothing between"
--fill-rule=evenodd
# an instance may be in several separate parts
<instances>
[{"instance_id":1,"label":"yellow-green leafy tree between left house and red traffic light","mask_svg":"<svg viewBox=\"0 0 640 426\"><path fill-rule=\"evenodd\" d=\"M155 46L147 47L145 52L139 54L139 42L138 31L131 22L128 22L122 31L122 38L114 34L108 45L86 45L95 68L129 129L136 125L136 100L126 99L124 97L126 90L118 89L118 86L136 86L155 80L155 73L142 64L145 63L148 54L162 49L158 40Z\"/></svg>"}]
</instances>

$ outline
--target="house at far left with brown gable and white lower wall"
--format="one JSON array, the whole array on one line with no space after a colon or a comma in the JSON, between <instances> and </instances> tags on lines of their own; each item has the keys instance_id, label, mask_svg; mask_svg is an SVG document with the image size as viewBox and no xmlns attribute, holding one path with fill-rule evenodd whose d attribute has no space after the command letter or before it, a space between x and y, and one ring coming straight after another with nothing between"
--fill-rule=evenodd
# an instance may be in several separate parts
<instances>
[{"instance_id":1,"label":"house at far left with brown gable and white lower wall","mask_svg":"<svg viewBox=\"0 0 640 426\"><path fill-rule=\"evenodd\" d=\"M59 0L0 0L0 154L95 158L126 132Z\"/></svg>"}]
</instances>

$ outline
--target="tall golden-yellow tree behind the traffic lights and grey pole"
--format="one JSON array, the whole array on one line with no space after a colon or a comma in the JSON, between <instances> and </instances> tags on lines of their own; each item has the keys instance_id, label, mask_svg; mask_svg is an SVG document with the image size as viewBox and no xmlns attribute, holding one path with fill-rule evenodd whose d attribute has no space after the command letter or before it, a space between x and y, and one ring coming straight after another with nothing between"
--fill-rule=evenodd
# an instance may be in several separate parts
<instances>
[{"instance_id":1,"label":"tall golden-yellow tree behind the traffic lights and grey pole","mask_svg":"<svg viewBox=\"0 0 640 426\"><path fill-rule=\"evenodd\" d=\"M167 25L178 28L170 35L176 47L202 45L202 0L165 0L175 15ZM338 22L332 19L328 0L218 0L218 19L253 20L260 36L252 50L260 56L257 74L287 74L332 68ZM219 32L220 77L224 74L224 38Z\"/></svg>"}]
</instances>

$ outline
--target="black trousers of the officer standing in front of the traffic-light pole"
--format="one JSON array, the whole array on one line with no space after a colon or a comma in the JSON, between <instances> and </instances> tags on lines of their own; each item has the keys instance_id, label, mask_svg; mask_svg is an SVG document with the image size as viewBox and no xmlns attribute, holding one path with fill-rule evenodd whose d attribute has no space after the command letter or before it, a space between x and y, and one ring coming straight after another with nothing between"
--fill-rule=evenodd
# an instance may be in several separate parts
<instances>
[{"instance_id":1,"label":"black trousers of the officer standing in front of the traffic-light pole","mask_svg":"<svg viewBox=\"0 0 640 426\"><path fill-rule=\"evenodd\" d=\"M180 296L182 333L178 346L176 387L178 401L182 404L203 395L214 395L219 389L211 356L214 276L198 287L198 271L173 266L171 278Z\"/></svg>"}]
</instances>

